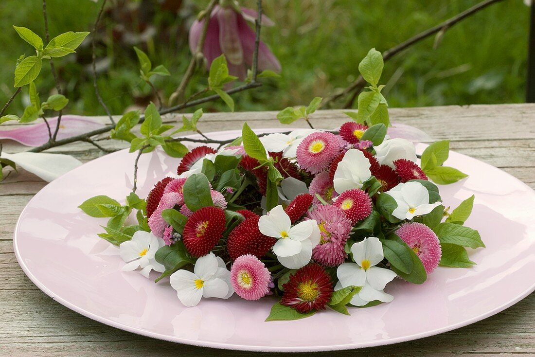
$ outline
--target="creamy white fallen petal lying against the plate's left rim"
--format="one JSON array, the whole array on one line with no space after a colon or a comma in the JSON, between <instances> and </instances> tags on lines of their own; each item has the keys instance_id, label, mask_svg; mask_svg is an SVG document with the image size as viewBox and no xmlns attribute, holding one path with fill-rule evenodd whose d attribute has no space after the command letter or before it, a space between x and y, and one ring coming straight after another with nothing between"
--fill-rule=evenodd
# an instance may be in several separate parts
<instances>
[{"instance_id":1,"label":"creamy white fallen petal lying against the plate's left rim","mask_svg":"<svg viewBox=\"0 0 535 357\"><path fill-rule=\"evenodd\" d=\"M2 157L15 162L22 169L39 176L45 181L52 181L64 173L77 168L82 163L69 155L48 153L2 153Z\"/></svg>"}]
</instances>

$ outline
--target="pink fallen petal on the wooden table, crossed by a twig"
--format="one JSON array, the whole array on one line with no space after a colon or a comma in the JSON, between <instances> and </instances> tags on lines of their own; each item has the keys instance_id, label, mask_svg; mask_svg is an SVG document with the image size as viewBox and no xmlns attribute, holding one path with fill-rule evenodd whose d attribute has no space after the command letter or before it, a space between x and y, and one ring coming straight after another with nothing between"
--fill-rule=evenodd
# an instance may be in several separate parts
<instances>
[{"instance_id":1,"label":"pink fallen petal on the wooden table, crossed by a twig","mask_svg":"<svg viewBox=\"0 0 535 357\"><path fill-rule=\"evenodd\" d=\"M58 118L47 119L50 130L56 130ZM70 138L71 136L84 134L98 128L103 124L91 117L81 117L77 115L64 115L59 126L57 140ZM41 146L49 140L47 124L44 121L33 125L25 125L16 129L1 130L0 139L11 139L26 146Z\"/></svg>"}]
</instances>

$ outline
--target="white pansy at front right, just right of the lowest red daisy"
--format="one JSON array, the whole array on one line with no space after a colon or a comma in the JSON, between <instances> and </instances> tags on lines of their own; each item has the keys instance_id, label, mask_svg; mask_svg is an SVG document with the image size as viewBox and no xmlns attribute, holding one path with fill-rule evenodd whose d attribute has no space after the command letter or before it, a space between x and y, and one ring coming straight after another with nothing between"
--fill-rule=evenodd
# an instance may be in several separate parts
<instances>
[{"instance_id":1,"label":"white pansy at front right, just right of the lowest red daisy","mask_svg":"<svg viewBox=\"0 0 535 357\"><path fill-rule=\"evenodd\" d=\"M347 286L362 286L358 294L351 299L351 305L364 306L374 300L390 302L394 297L383 291L386 284L397 275L390 269L379 268L383 258L383 245L379 238L364 238L362 242L351 246L355 263L343 263L338 267L338 284L334 290Z\"/></svg>"}]
</instances>

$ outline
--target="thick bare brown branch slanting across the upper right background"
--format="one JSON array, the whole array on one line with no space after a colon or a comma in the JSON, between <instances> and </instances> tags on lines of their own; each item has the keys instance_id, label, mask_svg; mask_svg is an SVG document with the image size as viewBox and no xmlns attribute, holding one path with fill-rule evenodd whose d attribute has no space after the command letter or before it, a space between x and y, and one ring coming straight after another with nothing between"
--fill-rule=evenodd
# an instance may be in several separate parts
<instances>
[{"instance_id":1,"label":"thick bare brown branch slanting across the upper right background","mask_svg":"<svg viewBox=\"0 0 535 357\"><path fill-rule=\"evenodd\" d=\"M386 60L394 57L395 55L399 54L399 52L403 51L404 49L407 49L411 45L413 45L413 44L415 44L415 43L417 43L419 41L422 41L426 37L434 35L435 33L438 33L438 32L441 32L441 31L445 32L446 29L451 28L452 26L457 24L457 22L460 22L461 20L463 20L463 19L465 19L465 18L467 18L467 17L479 12L480 10L485 9L485 7L487 7L489 5L492 5L494 3L498 3L500 1L503 1L503 0L485 0L483 2L480 2L479 4L470 7L470 9L465 10L465 11L457 14L456 16L454 16L454 17L442 22L441 24L439 24L437 26L434 26L434 27L431 27L431 28L427 29L426 31L417 34L416 36L411 37L407 41L404 41L404 42L392 47L391 49L388 49L388 50L384 51L383 52L383 59L386 61ZM330 97L326 97L324 99L324 101L323 101L323 104L325 105L327 103L334 102L334 101L338 100L339 98L345 97L346 95L348 95L348 94L350 94L352 92L355 92L356 94L353 93L352 97L350 98L350 100L345 105L345 108L348 108L348 107L351 106L351 104L353 104L353 102L355 101L356 96L362 90L362 88L364 88L365 85L366 85L366 81L362 78L362 75L361 75L353 83L351 83L351 85L349 87L343 89L340 93L334 94L334 95L332 95Z\"/></svg>"}]
</instances>

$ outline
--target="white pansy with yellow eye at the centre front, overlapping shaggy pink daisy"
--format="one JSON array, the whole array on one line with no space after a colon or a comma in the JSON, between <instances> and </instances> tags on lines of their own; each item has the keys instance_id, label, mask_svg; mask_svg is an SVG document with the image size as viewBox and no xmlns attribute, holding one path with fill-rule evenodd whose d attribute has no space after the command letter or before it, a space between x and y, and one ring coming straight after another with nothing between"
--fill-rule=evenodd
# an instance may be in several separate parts
<instances>
[{"instance_id":1,"label":"white pansy with yellow eye at the centre front, overlapping shaggy pink daisy","mask_svg":"<svg viewBox=\"0 0 535 357\"><path fill-rule=\"evenodd\" d=\"M282 206L277 206L260 217L258 229L266 236L277 238L273 253L289 269L299 269L310 262L312 248L319 244L320 232L314 219L292 227L290 217Z\"/></svg>"}]
</instances>

